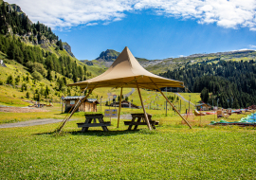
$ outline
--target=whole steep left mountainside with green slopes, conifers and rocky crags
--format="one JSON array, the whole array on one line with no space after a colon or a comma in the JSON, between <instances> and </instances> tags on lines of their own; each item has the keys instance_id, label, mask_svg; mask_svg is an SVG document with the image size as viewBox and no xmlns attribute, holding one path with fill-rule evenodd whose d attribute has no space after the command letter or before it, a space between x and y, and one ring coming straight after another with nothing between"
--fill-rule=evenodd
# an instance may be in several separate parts
<instances>
[{"instance_id":1,"label":"whole steep left mountainside with green slopes, conifers and rocky crags","mask_svg":"<svg viewBox=\"0 0 256 180\"><path fill-rule=\"evenodd\" d=\"M59 40L50 27L33 24L19 6L2 0L0 60L7 66L0 66L0 103L4 104L23 99L59 101L62 96L79 95L79 88L66 84L103 72L78 61L71 46Z\"/></svg>"}]
</instances>

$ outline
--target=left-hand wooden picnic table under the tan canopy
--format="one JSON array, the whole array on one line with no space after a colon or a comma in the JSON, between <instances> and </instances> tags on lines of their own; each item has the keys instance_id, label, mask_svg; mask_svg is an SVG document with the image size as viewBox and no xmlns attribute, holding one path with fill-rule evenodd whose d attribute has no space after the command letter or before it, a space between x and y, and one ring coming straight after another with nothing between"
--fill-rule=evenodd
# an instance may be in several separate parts
<instances>
[{"instance_id":1,"label":"left-hand wooden picnic table under the tan canopy","mask_svg":"<svg viewBox=\"0 0 256 180\"><path fill-rule=\"evenodd\" d=\"M96 121L99 121L97 123ZM92 123L93 121L93 123ZM99 127L101 126L104 132L107 132L107 126L110 126L109 121L104 121L103 120L103 115L102 114L91 114L91 115L85 115L85 122L84 123L77 123L79 128L82 128L82 132L87 132L89 127Z\"/></svg>"}]
</instances>

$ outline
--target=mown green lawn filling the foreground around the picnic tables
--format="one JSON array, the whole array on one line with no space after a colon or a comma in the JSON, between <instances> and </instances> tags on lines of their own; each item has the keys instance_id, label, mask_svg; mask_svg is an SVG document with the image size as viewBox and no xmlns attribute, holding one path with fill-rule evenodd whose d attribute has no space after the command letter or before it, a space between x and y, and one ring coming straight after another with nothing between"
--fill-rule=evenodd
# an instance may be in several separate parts
<instances>
[{"instance_id":1,"label":"mown green lawn filling the foreground around the picnic tables","mask_svg":"<svg viewBox=\"0 0 256 180\"><path fill-rule=\"evenodd\" d=\"M155 119L153 132L116 119L109 132L80 133L82 120L62 135L51 133L59 124L0 129L0 179L255 179L255 129Z\"/></svg>"}]
</instances>

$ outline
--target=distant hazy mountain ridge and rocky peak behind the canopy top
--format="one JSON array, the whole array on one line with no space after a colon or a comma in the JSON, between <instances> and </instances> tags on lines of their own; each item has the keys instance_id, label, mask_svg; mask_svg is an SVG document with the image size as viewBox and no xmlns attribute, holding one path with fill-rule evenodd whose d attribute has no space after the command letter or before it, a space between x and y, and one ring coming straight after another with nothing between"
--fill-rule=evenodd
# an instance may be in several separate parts
<instances>
[{"instance_id":1,"label":"distant hazy mountain ridge and rocky peak behind the canopy top","mask_svg":"<svg viewBox=\"0 0 256 180\"><path fill-rule=\"evenodd\" d=\"M164 60L147 60L144 58L137 58L138 63L140 63L148 71L158 74L164 73L168 70L174 70L176 68L182 67L185 64L200 63L203 61L240 61L240 60L250 60L255 59L255 50L236 50L228 52L217 52L209 54L192 54L187 57L179 58L167 58ZM110 65L117 59L119 52L113 49L107 49L102 51L100 56L93 61L82 60L82 63L85 63L90 66L98 66L100 68L108 68Z\"/></svg>"}]
</instances>

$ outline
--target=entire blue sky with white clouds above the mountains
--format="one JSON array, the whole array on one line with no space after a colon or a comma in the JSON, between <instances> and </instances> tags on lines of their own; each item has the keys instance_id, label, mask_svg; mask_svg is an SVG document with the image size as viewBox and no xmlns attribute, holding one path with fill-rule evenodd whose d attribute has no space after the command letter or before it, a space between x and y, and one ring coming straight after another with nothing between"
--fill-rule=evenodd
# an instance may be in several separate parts
<instances>
[{"instance_id":1,"label":"entire blue sky with white clouds above the mountains","mask_svg":"<svg viewBox=\"0 0 256 180\"><path fill-rule=\"evenodd\" d=\"M254 0L8 2L19 5L33 22L52 27L79 60L125 46L149 60L256 49Z\"/></svg>"}]
</instances>

